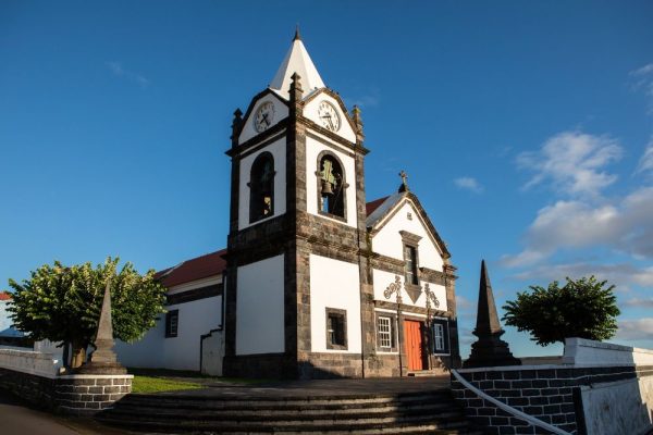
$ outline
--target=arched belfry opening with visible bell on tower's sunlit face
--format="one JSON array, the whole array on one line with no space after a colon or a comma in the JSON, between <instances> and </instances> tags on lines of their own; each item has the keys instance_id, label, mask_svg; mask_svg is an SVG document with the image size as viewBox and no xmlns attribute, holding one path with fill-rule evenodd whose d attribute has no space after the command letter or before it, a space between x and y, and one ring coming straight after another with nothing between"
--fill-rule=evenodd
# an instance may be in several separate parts
<instances>
[{"instance_id":1,"label":"arched belfry opening with visible bell on tower's sunlit face","mask_svg":"<svg viewBox=\"0 0 653 435\"><path fill-rule=\"evenodd\" d=\"M318 158L318 195L320 212L345 217L345 173L340 160L331 153Z\"/></svg>"}]
</instances>

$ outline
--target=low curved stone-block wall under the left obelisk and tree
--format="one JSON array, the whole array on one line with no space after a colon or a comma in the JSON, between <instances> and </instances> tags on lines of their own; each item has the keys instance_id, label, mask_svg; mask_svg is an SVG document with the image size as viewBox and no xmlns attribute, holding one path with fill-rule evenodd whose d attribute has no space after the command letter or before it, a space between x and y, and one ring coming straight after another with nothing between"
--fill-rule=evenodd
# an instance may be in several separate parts
<instances>
[{"instance_id":1,"label":"low curved stone-block wall under the left obelisk and tree","mask_svg":"<svg viewBox=\"0 0 653 435\"><path fill-rule=\"evenodd\" d=\"M90 415L132 391L132 375L59 375L50 352L0 349L0 388L56 412Z\"/></svg>"}]
</instances>

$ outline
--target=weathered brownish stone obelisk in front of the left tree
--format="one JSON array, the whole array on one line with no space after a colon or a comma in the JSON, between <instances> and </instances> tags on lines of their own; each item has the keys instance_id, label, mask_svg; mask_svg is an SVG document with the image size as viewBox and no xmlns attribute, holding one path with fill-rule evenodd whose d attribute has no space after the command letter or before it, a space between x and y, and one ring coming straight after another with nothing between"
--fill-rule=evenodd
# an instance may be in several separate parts
<instances>
[{"instance_id":1,"label":"weathered brownish stone obelisk in front of the left tree","mask_svg":"<svg viewBox=\"0 0 653 435\"><path fill-rule=\"evenodd\" d=\"M77 372L83 374L125 374L127 371L118 362L113 351L113 323L111 320L111 282L107 282L102 310L98 322L98 332L94 345L91 361L82 365Z\"/></svg>"}]
</instances>

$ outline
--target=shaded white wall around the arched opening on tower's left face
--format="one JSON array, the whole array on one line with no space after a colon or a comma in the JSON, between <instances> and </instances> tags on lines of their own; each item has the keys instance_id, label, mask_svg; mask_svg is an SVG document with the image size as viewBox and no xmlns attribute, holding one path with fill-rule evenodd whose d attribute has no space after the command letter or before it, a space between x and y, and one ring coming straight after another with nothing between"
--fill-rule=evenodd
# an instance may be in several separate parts
<instances>
[{"instance_id":1,"label":"shaded white wall around the arched opening on tower's left face","mask_svg":"<svg viewBox=\"0 0 653 435\"><path fill-rule=\"evenodd\" d=\"M264 222L274 216L279 216L286 211L286 162L285 162L285 136L282 136L271 145L263 149L258 150L255 153L247 156L241 160L241 181L239 181L239 201L238 201L238 229L246 228L254 224ZM266 219L256 221L254 224L249 223L249 176L251 175L251 164L256 158L261 153L268 151L274 158L274 213Z\"/></svg>"}]
</instances>

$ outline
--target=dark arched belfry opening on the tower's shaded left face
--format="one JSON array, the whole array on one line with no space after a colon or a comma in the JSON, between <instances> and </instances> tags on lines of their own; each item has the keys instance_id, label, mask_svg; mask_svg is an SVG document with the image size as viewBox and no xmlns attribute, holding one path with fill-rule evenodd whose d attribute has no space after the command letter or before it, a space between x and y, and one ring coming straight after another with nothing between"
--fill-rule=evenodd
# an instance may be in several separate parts
<instances>
[{"instance_id":1,"label":"dark arched belfry opening on the tower's shaded left face","mask_svg":"<svg viewBox=\"0 0 653 435\"><path fill-rule=\"evenodd\" d=\"M249 222L274 214L274 158L261 152L251 164L249 176Z\"/></svg>"}]
</instances>

